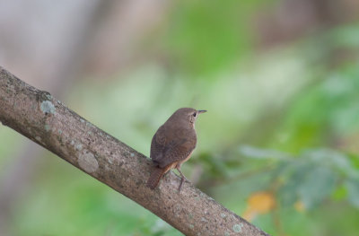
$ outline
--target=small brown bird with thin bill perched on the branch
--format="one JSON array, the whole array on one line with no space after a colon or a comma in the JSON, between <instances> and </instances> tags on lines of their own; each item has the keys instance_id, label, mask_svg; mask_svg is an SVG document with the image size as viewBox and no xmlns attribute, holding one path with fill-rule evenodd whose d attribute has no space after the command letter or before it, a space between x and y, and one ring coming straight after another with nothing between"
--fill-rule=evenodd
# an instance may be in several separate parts
<instances>
[{"instance_id":1,"label":"small brown bird with thin bill perched on the branch","mask_svg":"<svg viewBox=\"0 0 359 236\"><path fill-rule=\"evenodd\" d=\"M186 177L180 171L183 162L188 161L197 144L195 122L199 114L206 110L183 108L159 127L153 135L150 157L156 168L147 180L147 187L156 188L162 176L171 169L180 172L180 189ZM187 179L186 179L187 180Z\"/></svg>"}]
</instances>

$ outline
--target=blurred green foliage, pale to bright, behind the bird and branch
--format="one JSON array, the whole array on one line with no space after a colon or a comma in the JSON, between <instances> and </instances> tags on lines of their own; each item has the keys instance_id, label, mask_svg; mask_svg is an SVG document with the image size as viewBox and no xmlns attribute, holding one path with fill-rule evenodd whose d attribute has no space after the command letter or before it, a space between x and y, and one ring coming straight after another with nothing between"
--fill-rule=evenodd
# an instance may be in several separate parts
<instances>
[{"instance_id":1,"label":"blurred green foliage, pale to bright, behind the bird and branch","mask_svg":"<svg viewBox=\"0 0 359 236\"><path fill-rule=\"evenodd\" d=\"M258 52L250 20L270 4L177 1L153 42L175 70L149 62L109 83L79 82L66 104L147 156L175 109L207 109L183 166L197 187L236 214L253 193L273 193L276 208L253 220L273 235L356 235L359 25ZM5 127L0 137L3 172L23 138ZM181 235L57 157L41 165L13 235Z\"/></svg>"}]
</instances>

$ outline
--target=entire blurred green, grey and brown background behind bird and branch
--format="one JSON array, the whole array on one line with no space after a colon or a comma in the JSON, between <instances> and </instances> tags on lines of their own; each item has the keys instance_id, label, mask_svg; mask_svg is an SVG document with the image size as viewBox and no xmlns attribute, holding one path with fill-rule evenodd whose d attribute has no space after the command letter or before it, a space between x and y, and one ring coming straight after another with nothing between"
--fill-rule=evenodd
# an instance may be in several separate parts
<instances>
[{"instance_id":1,"label":"entire blurred green, grey and brown background behind bird and branch","mask_svg":"<svg viewBox=\"0 0 359 236\"><path fill-rule=\"evenodd\" d=\"M0 65L147 156L174 110L207 109L197 188L273 235L357 235L357 0L0 0ZM0 235L181 235L0 140Z\"/></svg>"}]
</instances>

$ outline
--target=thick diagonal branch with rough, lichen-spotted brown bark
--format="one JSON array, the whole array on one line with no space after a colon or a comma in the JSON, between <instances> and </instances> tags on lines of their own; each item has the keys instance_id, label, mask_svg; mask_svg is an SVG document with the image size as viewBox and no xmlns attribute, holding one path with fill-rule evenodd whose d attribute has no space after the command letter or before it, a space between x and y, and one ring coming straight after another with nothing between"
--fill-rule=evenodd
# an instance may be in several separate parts
<instances>
[{"instance_id":1,"label":"thick diagonal branch with rough, lichen-spotted brown bark","mask_svg":"<svg viewBox=\"0 0 359 236\"><path fill-rule=\"evenodd\" d=\"M186 235L268 235L188 182L179 193L180 178L173 173L158 188L146 188L153 168L148 158L1 66L0 121Z\"/></svg>"}]
</instances>

